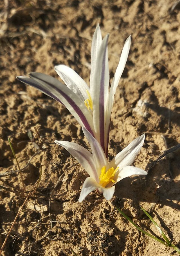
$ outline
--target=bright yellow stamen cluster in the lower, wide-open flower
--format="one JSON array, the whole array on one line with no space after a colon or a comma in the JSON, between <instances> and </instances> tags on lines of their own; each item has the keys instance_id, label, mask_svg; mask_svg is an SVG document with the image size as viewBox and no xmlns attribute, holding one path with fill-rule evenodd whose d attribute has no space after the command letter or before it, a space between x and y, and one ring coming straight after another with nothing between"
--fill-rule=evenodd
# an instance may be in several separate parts
<instances>
[{"instance_id":1,"label":"bright yellow stamen cluster in the lower, wide-open flower","mask_svg":"<svg viewBox=\"0 0 180 256\"><path fill-rule=\"evenodd\" d=\"M106 187L106 185L109 184L110 181L114 183L115 180L113 180L112 178L114 178L114 175L118 169L119 167L117 167L115 170L114 170L114 167L111 167L106 172L106 167L103 166L101 169L101 175L99 176L99 179L100 179L99 184L103 187Z\"/></svg>"}]
</instances>

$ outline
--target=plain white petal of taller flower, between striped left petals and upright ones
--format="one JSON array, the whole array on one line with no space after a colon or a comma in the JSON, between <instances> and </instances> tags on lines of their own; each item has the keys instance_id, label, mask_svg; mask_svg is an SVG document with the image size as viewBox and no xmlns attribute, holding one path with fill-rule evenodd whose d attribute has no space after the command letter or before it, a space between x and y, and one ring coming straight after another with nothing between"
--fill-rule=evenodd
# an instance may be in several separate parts
<instances>
[{"instance_id":1,"label":"plain white petal of taller flower, between striped left petals and upright ones","mask_svg":"<svg viewBox=\"0 0 180 256\"><path fill-rule=\"evenodd\" d=\"M76 93L83 101L87 99L86 90L89 91L89 87L73 69L65 65L55 66L54 69L71 91Z\"/></svg>"}]
</instances>

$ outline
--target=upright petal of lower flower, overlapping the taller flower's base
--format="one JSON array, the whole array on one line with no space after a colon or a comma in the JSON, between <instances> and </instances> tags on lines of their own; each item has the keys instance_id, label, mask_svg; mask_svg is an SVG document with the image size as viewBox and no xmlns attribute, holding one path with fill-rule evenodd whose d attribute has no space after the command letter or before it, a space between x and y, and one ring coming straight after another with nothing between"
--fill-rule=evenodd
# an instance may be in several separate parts
<instances>
[{"instance_id":1,"label":"upright petal of lower flower, overlapping the taller flower's base","mask_svg":"<svg viewBox=\"0 0 180 256\"><path fill-rule=\"evenodd\" d=\"M99 142L90 134L90 132L88 132L88 130L86 128L83 127L82 130L91 146L96 170L97 170L98 177L99 177L101 174L102 167L103 166L108 167L109 163L105 156L104 150L102 149L102 146L99 144Z\"/></svg>"}]
</instances>

